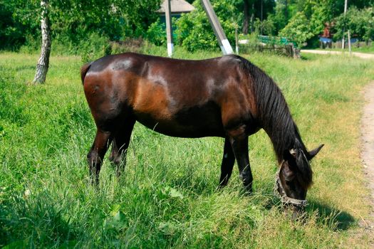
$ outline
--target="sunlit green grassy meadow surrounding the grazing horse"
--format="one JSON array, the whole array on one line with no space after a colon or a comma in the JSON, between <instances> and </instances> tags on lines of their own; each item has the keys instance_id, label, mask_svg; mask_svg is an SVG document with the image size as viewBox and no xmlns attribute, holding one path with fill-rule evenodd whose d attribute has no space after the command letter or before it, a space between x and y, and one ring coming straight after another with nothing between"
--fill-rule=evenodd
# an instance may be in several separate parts
<instances>
[{"instance_id":1,"label":"sunlit green grassy meadow surrounding the grazing horse","mask_svg":"<svg viewBox=\"0 0 374 249\"><path fill-rule=\"evenodd\" d=\"M53 55L46 84L31 85L38 55L3 52L0 248L366 248L373 238L358 226L369 213L359 128L373 61L245 57L279 84L306 146L326 144L312 162L304 222L291 221L272 194L277 165L264 131L249 139L251 196L240 194L237 166L217 191L224 139L165 137L141 124L124 177L115 178L107 154L95 191L86 164L95 125L80 58Z\"/></svg>"}]
</instances>

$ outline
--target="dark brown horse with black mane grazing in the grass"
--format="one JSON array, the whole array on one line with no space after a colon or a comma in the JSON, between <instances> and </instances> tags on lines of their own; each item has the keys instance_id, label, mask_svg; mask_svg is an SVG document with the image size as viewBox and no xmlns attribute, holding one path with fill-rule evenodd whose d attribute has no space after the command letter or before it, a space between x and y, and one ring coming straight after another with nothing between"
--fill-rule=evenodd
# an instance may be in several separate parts
<instances>
[{"instance_id":1,"label":"dark brown horse with black mane grazing in the grass","mask_svg":"<svg viewBox=\"0 0 374 249\"><path fill-rule=\"evenodd\" d=\"M138 53L108 55L82 66L85 97L97 127L87 159L98 184L103 157L120 176L135 122L172 137L222 137L219 186L226 186L235 159L244 190L252 191L248 137L264 129L279 163L275 190L301 209L312 184L311 151L301 140L279 87L239 55L177 60Z\"/></svg>"}]
</instances>

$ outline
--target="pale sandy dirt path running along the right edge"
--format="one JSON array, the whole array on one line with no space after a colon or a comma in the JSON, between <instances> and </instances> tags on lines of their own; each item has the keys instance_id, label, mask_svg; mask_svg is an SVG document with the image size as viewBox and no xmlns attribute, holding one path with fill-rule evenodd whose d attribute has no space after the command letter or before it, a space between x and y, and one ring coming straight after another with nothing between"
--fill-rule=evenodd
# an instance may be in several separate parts
<instances>
[{"instance_id":1,"label":"pale sandy dirt path running along the right edge","mask_svg":"<svg viewBox=\"0 0 374 249\"><path fill-rule=\"evenodd\" d=\"M371 218L370 221L363 221L361 226L369 234L374 235L374 82L365 87L363 95L366 103L361 118L361 158L368 188L371 191L371 196L368 198L371 205Z\"/></svg>"}]
</instances>

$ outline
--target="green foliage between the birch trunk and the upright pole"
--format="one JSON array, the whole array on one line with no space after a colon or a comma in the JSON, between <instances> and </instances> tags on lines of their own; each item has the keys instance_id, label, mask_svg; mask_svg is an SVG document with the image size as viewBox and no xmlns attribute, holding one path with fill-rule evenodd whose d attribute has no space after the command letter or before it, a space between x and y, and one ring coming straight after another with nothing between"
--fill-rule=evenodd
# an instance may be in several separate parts
<instances>
[{"instance_id":1,"label":"green foliage between the birch trunk and the upright pole","mask_svg":"<svg viewBox=\"0 0 374 249\"><path fill-rule=\"evenodd\" d=\"M94 31L110 40L144 36L157 19L160 0L54 0L53 31L82 38Z\"/></svg>"}]
</instances>

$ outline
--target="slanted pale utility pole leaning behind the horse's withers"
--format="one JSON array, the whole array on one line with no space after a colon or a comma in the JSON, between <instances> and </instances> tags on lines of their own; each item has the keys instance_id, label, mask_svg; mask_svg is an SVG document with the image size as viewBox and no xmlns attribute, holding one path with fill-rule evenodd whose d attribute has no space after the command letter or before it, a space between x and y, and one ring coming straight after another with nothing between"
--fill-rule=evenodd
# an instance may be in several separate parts
<instances>
[{"instance_id":1,"label":"slanted pale utility pole leaning behind the horse's withers","mask_svg":"<svg viewBox=\"0 0 374 249\"><path fill-rule=\"evenodd\" d=\"M216 13L214 12L214 9L212 7L212 4L210 4L209 0L201 0L202 6L204 8L205 13L208 16L209 23L213 28L214 34L217 37L219 47L221 47L221 51L224 55L234 53L232 51L232 46L229 43L229 40L227 40L226 35L224 34L224 30L222 29L221 23L219 23Z\"/></svg>"}]
</instances>

